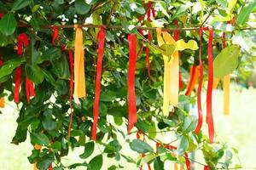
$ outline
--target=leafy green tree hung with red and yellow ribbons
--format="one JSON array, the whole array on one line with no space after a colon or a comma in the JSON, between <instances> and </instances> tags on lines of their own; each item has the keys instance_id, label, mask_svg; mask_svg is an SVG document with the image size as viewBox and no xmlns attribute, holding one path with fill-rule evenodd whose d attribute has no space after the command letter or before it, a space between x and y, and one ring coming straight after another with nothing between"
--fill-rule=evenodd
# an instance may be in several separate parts
<instances>
[{"instance_id":1,"label":"leafy green tree hung with red and yellow ribbons","mask_svg":"<svg viewBox=\"0 0 256 170\"><path fill-rule=\"evenodd\" d=\"M107 157L135 163L138 167L151 164L154 169L164 169L165 161L169 160L189 168L189 162L195 161L189 153L195 150L202 151L206 161L202 163L210 169L230 167L232 153L229 147L217 141L212 144L202 131L194 132L198 121L189 114L189 106L196 104L195 83L187 85L187 81L183 82L182 79L189 78L191 65L195 67L200 64L198 46L202 49L201 64L205 67L201 77L206 80L211 77L208 75L211 68L207 67L211 54L217 56L214 59L214 77L222 78L230 74L238 64L247 65L247 60L238 59L238 56L253 54L253 38L249 36L255 37L252 27L255 22L251 20L255 13L251 12L255 12L253 1L244 3L236 0L192 3L168 0L0 2L0 54L3 60L0 68L1 96L8 97L10 101L15 100L20 111L12 143L25 141L28 133L35 146L28 159L36 163L39 169L52 168L52 162L55 162L54 169L79 166L94 170L106 169L102 167L102 162ZM91 25L83 25L86 22ZM76 44L74 24L84 27L82 37L87 92L86 98L79 99L80 104L72 98L72 54ZM184 41L160 44L155 27L162 26L169 33L174 31L176 41L178 36ZM177 27L180 29L176 30ZM211 43L211 29L201 32L200 43L200 27L212 27L214 30L212 53L207 50ZM106 31L106 36L101 43L97 34L102 29ZM225 49L222 45L223 32L227 39ZM127 38L127 34L132 35L131 39ZM137 40L136 44L132 38ZM97 70L97 60L101 57L98 55L100 49L97 48L100 44L105 44L102 79L99 82L102 88L96 141L92 141L96 74L101 70ZM144 48L146 53L143 52ZM175 52L177 49L180 52ZM133 105L137 109L137 122L127 135L123 127L126 127L128 117L127 77L132 63L131 53L137 55L136 105ZM183 84L183 87L180 84L178 105L167 110L165 115L162 110L165 79L163 55L168 57L165 60L168 63L174 53L180 55L180 82L186 85ZM190 75L194 77L193 71ZM199 72L197 75L200 77ZM188 87L189 92L184 95ZM70 116L71 111L73 116ZM69 126L70 117L73 122ZM170 140L160 140L159 133L170 135ZM141 158L135 161L131 156L122 154L121 140L129 143L131 150L142 154ZM156 150L152 142L157 145ZM94 155L89 160L96 145L102 148L102 154ZM63 165L61 157L67 156L68 151L76 147L84 147L84 154L80 156L84 162ZM122 168L119 163L108 167L119 168Z\"/></svg>"}]
</instances>

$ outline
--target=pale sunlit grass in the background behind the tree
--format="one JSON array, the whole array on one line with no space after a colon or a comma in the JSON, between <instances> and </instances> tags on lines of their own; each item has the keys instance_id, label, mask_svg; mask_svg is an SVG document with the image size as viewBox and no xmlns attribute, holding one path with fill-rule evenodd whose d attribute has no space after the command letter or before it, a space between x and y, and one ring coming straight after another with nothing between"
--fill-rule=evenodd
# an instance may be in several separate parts
<instances>
[{"instance_id":1,"label":"pale sunlit grass in the background behind the tree","mask_svg":"<svg viewBox=\"0 0 256 170\"><path fill-rule=\"evenodd\" d=\"M223 92L216 90L213 93L213 114L215 128L218 134L217 140L227 143L230 147L235 147L239 150L240 161L236 157L234 157L233 161L235 161L235 164L241 163L242 169L246 170L256 167L255 102L255 89L232 86L230 94L230 116L223 116ZM32 165L27 160L27 156L31 154L32 149L29 141L26 140L26 142L20 145L10 144L15 134L17 112L9 105L7 105L2 112L3 114L0 115L0 169L32 169ZM206 128L206 126L204 128ZM128 146L125 148L128 148ZM70 153L69 156L63 159L63 162L67 165L74 161L82 162L82 160L79 159L79 154L82 152L83 150L74 150L73 153ZM100 153L99 150L97 150L97 152ZM124 150L123 153L134 158L137 157L137 154L130 150ZM115 162L105 161L102 169L107 169L111 164L115 164ZM123 166L126 167L125 169L135 169L134 165L128 165L126 162L123 163Z\"/></svg>"}]
</instances>

